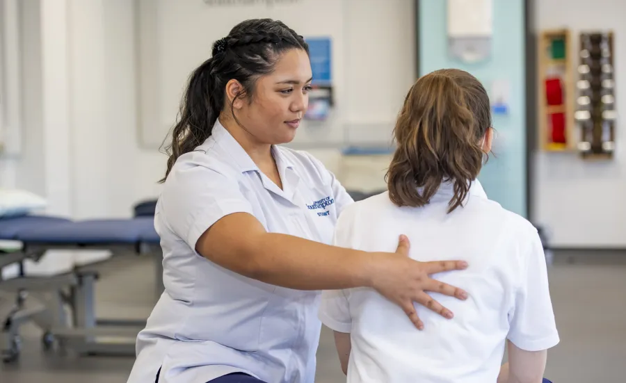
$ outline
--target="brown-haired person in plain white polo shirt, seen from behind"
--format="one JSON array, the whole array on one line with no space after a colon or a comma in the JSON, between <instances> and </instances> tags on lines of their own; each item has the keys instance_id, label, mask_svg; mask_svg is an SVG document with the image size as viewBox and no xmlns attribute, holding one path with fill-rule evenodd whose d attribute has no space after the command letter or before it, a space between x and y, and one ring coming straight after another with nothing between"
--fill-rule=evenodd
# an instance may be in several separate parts
<instances>
[{"instance_id":1,"label":"brown-haired person in plain white polo shirt, seen from behind","mask_svg":"<svg viewBox=\"0 0 626 383\"><path fill-rule=\"evenodd\" d=\"M490 201L476 180L492 132L487 92L467 72L435 71L408 92L388 191L346 207L333 243L389 252L406 234L419 243L412 259L465 259L467 270L439 279L470 298L437 296L452 320L417 307L417 332L374 290L324 291L320 318L335 330L348 383L542 382L546 350L559 343L545 255L535 227Z\"/></svg>"}]
</instances>

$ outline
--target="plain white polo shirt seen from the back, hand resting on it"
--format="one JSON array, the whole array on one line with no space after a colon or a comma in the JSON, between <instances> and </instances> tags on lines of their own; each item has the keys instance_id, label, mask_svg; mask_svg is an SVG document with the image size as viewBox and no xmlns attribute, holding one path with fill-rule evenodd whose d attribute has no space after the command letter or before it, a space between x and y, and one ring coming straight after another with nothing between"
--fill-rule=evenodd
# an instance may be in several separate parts
<instances>
[{"instance_id":1,"label":"plain white polo shirt seen from the back, hand resting on it","mask_svg":"<svg viewBox=\"0 0 626 383\"><path fill-rule=\"evenodd\" d=\"M451 309L451 320L416 304L421 332L400 307L369 288L325 291L322 322L351 333L348 383L495 382L506 339L531 351L559 343L536 229L490 201L478 181L465 207L447 214L453 195L451 184L443 184L427 206L398 208L383 193L339 218L335 245L389 252L406 234L412 259L469 263L467 270L434 276L469 298L431 294Z\"/></svg>"}]
</instances>

